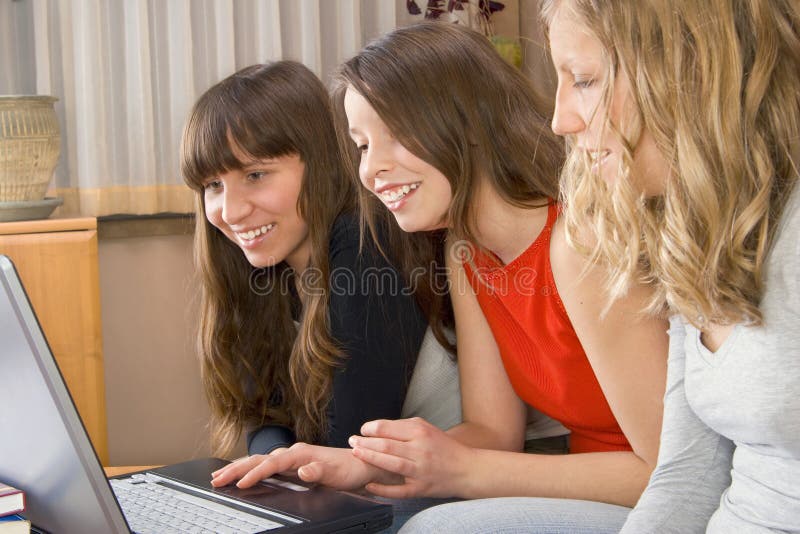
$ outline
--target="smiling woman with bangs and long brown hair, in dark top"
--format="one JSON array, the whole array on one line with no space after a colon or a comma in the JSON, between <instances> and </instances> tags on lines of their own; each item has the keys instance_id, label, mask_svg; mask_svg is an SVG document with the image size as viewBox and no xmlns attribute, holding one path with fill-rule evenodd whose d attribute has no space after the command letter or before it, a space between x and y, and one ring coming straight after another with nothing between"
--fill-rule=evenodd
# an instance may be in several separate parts
<instances>
[{"instance_id":1,"label":"smiling woman with bangs and long brown hair, in dark top","mask_svg":"<svg viewBox=\"0 0 800 534\"><path fill-rule=\"evenodd\" d=\"M400 417L427 321L400 273L371 239L360 242L319 79L281 61L219 82L192 110L181 168L197 192L199 352L215 451L229 453L244 431L251 453L295 440L343 447L365 421ZM442 358L452 376L453 365ZM413 400L449 426L458 391L444 380Z\"/></svg>"}]
</instances>

